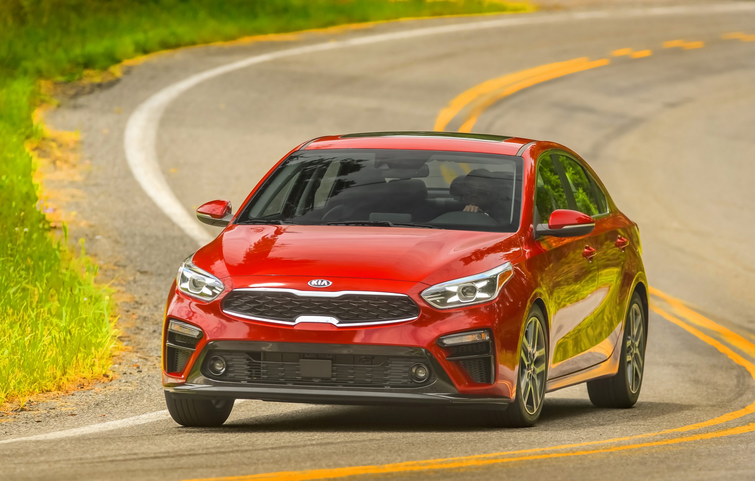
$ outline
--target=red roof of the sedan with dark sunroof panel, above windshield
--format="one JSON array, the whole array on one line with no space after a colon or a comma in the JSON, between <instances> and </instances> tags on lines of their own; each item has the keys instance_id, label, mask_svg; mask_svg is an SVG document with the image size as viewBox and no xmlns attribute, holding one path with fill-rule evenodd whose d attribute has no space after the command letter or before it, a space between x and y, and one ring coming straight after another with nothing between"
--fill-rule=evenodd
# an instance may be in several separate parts
<instances>
[{"instance_id":1,"label":"red roof of the sedan with dark sunroof panel, above windshield","mask_svg":"<svg viewBox=\"0 0 755 481\"><path fill-rule=\"evenodd\" d=\"M324 136L302 149L406 149L517 155L531 139L458 132L368 132Z\"/></svg>"}]
</instances>

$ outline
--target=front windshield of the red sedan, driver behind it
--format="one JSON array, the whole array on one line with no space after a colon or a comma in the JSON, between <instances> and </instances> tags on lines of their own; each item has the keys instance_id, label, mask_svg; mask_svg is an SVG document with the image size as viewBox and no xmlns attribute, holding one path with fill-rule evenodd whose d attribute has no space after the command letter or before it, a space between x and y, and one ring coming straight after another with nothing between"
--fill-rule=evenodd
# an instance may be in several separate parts
<instances>
[{"instance_id":1,"label":"front windshield of the red sedan, driver behind it","mask_svg":"<svg viewBox=\"0 0 755 481\"><path fill-rule=\"evenodd\" d=\"M522 158L427 150L300 150L237 222L514 232Z\"/></svg>"}]
</instances>

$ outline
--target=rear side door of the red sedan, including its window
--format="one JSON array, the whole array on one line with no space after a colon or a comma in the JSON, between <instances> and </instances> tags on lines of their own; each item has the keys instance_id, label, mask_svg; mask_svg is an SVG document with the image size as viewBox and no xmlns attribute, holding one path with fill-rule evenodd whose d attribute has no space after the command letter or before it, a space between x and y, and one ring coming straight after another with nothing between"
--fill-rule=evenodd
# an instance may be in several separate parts
<instances>
[{"instance_id":1,"label":"rear side door of the red sedan, including its window","mask_svg":"<svg viewBox=\"0 0 755 481\"><path fill-rule=\"evenodd\" d=\"M584 326L581 332L569 333L564 342L576 344L577 338L582 338L584 347L590 346L586 351L589 354L587 357L596 364L611 356L621 335L626 301L626 294L622 293L621 288L627 259L624 242L628 243L628 240L622 229L624 222L621 222L619 216L609 212L606 195L587 167L561 152L554 155L554 161L568 183L567 191L575 201L575 210L595 219L590 243L596 250L594 259L598 267L598 280L595 301L598 304L589 326Z\"/></svg>"}]
</instances>

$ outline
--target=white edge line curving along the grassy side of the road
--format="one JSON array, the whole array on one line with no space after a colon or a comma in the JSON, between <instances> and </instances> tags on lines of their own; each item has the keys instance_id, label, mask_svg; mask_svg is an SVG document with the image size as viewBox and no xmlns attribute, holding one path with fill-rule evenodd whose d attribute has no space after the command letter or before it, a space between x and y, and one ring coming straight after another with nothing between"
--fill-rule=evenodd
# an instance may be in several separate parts
<instances>
[{"instance_id":1,"label":"white edge line curving along the grassy side of the road","mask_svg":"<svg viewBox=\"0 0 755 481\"><path fill-rule=\"evenodd\" d=\"M538 23L561 22L569 20L587 20L595 18L610 17L655 17L673 14L707 14L722 13L732 11L751 11L755 10L753 3L732 3L726 5L713 6L686 6L686 7L658 7L646 9L633 9L621 11L592 11L579 12L574 14L553 14L542 17L507 17L498 20L485 20L480 22L458 23L453 25L426 27L422 29L408 30L405 32L391 32L379 35L368 35L365 37L351 38L344 41L328 41L327 43L307 45L304 47L288 48L282 51L276 51L270 54L255 55L244 60L228 63L214 69L205 70L195 75L190 75L178 81L175 84L168 85L152 97L145 100L128 118L125 130L124 148L126 151L126 160L134 179L145 191L146 195L151 198L157 207L168 216L186 235L196 240L200 246L204 246L212 236L205 231L202 224L199 223L190 213L180 204L178 198L171 190L165 176L160 171L159 162L156 152L157 129L160 118L165 108L181 93L202 83L205 80L214 78L234 70L243 69L257 63L269 62L284 57L291 57L300 54L310 54L318 51L334 50L336 48L352 47L356 45L375 44L381 41L400 40L405 38L422 37L426 35L439 35L443 33L464 32L474 29L490 29L502 26L519 26L533 25ZM241 403L242 400L236 400ZM42 441L42 440L59 440L66 437L80 436L82 434L101 433L103 431L120 429L122 427L138 426L155 421L165 421L170 419L168 410L149 412L143 415L137 415L131 418L119 419L116 421L106 421L100 424L91 424L90 426L74 427L61 431L55 431L47 434L35 434L33 436L16 437L9 440L0 440L0 444L17 443L20 441Z\"/></svg>"}]
</instances>

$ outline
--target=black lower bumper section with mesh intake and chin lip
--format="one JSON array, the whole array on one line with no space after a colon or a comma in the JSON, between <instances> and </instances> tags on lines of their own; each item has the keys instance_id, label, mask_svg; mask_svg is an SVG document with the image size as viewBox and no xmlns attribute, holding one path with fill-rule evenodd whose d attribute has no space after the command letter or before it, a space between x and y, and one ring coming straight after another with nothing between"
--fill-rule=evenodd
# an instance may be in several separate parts
<instances>
[{"instance_id":1,"label":"black lower bumper section with mesh intake and chin lip","mask_svg":"<svg viewBox=\"0 0 755 481\"><path fill-rule=\"evenodd\" d=\"M208 360L216 355L228 362L222 375L214 375L208 369ZM291 360L291 356L295 359ZM333 375L303 378L298 361L305 357L331 360ZM426 381L413 381L403 375L406 366L413 363L429 366ZM423 348L299 342L208 342L186 375L186 382L165 384L165 390L182 397L368 406L495 408L511 401L501 396L460 394L433 354Z\"/></svg>"}]
</instances>

